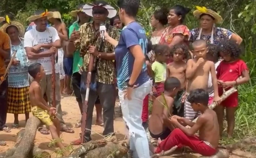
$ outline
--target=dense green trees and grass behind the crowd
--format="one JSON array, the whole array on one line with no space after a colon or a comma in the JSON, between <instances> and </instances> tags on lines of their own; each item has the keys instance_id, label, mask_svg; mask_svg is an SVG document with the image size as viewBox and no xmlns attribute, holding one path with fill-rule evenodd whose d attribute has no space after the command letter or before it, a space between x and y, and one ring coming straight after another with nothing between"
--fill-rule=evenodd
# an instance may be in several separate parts
<instances>
[{"instance_id":1,"label":"dense green trees and grass behind the crowd","mask_svg":"<svg viewBox=\"0 0 256 158\"><path fill-rule=\"evenodd\" d=\"M116 7L116 0L106 0L109 4ZM67 26L73 22L69 12L75 10L77 5L86 0L1 0L0 15L12 14L17 21L28 26L27 18L37 9L58 9L62 14L62 19ZM191 10L187 15L185 24L189 29L198 26L198 20L193 17L192 12L196 5L211 7L222 15L224 22L221 27L231 29L239 34L243 39L242 46L244 55L242 59L247 63L250 71L251 81L248 84L239 86L240 104L236 112L236 127L234 139L223 139L223 144L233 143L233 141L245 137L255 136L256 132L256 70L255 51L256 51L256 1L255 0L141 0L141 8L137 15L137 20L144 26L147 35L150 36L152 28L150 18L154 10L162 6L171 7L180 4Z\"/></svg>"}]
</instances>

